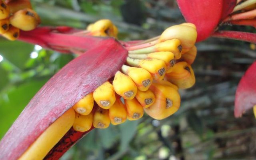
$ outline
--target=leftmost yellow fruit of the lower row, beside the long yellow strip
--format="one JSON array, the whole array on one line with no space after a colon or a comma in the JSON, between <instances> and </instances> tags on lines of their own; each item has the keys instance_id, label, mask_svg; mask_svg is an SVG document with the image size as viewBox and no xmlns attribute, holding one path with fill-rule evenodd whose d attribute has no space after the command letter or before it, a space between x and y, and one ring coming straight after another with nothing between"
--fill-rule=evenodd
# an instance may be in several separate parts
<instances>
[{"instance_id":1,"label":"leftmost yellow fruit of the lower row, beside the long yellow strip","mask_svg":"<svg viewBox=\"0 0 256 160\"><path fill-rule=\"evenodd\" d=\"M92 128L93 112L88 115L76 113L75 121L73 124L74 130L78 132L86 132Z\"/></svg>"}]
</instances>

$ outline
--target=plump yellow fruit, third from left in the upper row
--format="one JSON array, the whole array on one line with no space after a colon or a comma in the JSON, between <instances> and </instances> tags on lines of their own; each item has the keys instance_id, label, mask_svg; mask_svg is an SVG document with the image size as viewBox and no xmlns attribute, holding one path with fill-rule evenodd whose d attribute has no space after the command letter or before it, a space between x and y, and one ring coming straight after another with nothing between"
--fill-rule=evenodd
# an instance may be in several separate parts
<instances>
[{"instance_id":1,"label":"plump yellow fruit, third from left in the upper row","mask_svg":"<svg viewBox=\"0 0 256 160\"><path fill-rule=\"evenodd\" d=\"M115 74L113 80L113 87L117 94L122 96L124 99L132 99L137 94L137 86L132 79L118 71Z\"/></svg>"}]
</instances>

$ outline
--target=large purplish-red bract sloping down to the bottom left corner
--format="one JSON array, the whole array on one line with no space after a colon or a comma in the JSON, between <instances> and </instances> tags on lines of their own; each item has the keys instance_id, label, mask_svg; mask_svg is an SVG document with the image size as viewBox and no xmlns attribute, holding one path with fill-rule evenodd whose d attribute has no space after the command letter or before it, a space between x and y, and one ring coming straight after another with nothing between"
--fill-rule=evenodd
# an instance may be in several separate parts
<instances>
[{"instance_id":1,"label":"large purplish-red bract sloping down to the bottom left corner","mask_svg":"<svg viewBox=\"0 0 256 160\"><path fill-rule=\"evenodd\" d=\"M32 98L0 142L0 160L16 160L46 128L125 63L127 50L113 38L72 60Z\"/></svg>"}]
</instances>

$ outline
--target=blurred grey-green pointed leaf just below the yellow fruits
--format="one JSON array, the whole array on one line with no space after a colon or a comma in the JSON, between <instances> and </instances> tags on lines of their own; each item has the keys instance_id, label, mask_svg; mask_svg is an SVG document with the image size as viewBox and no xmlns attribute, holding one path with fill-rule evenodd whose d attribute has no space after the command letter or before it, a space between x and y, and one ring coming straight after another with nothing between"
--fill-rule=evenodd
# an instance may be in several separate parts
<instances>
[{"instance_id":1,"label":"blurred grey-green pointed leaf just below the yellow fruits","mask_svg":"<svg viewBox=\"0 0 256 160\"><path fill-rule=\"evenodd\" d=\"M121 145L120 150L124 150L128 147L130 141L137 132L137 126L140 120L129 121L126 120L123 124L118 125L121 132Z\"/></svg>"}]
</instances>

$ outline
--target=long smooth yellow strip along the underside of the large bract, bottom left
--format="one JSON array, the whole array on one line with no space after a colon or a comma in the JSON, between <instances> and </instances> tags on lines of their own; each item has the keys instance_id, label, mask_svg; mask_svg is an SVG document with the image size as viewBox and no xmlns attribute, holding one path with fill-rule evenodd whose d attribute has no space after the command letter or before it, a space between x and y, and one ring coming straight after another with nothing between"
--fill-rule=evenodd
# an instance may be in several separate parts
<instances>
[{"instance_id":1,"label":"long smooth yellow strip along the underside of the large bract, bottom left","mask_svg":"<svg viewBox=\"0 0 256 160\"><path fill-rule=\"evenodd\" d=\"M18 160L42 160L72 127L75 120L73 108L53 122Z\"/></svg>"}]
</instances>

